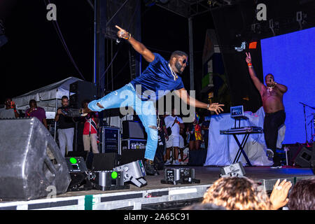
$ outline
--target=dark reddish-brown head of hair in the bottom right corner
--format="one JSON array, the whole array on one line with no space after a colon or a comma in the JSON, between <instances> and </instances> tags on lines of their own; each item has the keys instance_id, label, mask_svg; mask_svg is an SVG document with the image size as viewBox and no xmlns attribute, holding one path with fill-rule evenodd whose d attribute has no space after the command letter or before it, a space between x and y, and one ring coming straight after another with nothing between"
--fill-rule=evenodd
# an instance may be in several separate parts
<instances>
[{"instance_id":1,"label":"dark reddish-brown head of hair in the bottom right corner","mask_svg":"<svg viewBox=\"0 0 315 224\"><path fill-rule=\"evenodd\" d=\"M297 181L288 197L289 210L315 210L315 178Z\"/></svg>"}]
</instances>

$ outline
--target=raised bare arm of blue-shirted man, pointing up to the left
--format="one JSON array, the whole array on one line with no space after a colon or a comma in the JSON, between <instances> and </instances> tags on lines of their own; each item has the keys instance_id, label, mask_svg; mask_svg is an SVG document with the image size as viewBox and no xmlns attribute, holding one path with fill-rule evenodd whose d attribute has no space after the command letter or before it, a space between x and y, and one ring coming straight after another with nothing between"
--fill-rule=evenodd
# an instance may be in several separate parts
<instances>
[{"instance_id":1,"label":"raised bare arm of blue-shirted man, pointing up to the left","mask_svg":"<svg viewBox=\"0 0 315 224\"><path fill-rule=\"evenodd\" d=\"M125 29L118 27L118 25L116 25L115 27L119 29L117 33L117 36L119 38L126 39L132 45L132 48L139 52L139 54L142 55L147 62L153 62L155 56L153 55L153 52L151 52L151 50L148 50L148 48L146 48L143 43L140 43L135 38L133 38L131 34L125 31Z\"/></svg>"}]
</instances>

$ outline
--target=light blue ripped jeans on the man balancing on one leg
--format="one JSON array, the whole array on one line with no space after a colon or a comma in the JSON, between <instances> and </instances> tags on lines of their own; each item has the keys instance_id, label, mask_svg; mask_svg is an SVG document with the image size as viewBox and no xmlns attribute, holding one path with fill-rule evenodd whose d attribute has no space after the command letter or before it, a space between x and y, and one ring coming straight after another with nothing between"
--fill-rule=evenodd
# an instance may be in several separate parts
<instances>
[{"instance_id":1,"label":"light blue ripped jeans on the man balancing on one leg","mask_svg":"<svg viewBox=\"0 0 315 224\"><path fill-rule=\"evenodd\" d=\"M104 108L97 106L97 103L101 104ZM120 108L120 113L127 114L125 106L130 106L136 111L139 116L142 125L148 134L148 139L146 141L146 152L144 158L148 160L154 160L155 151L158 146L158 130L152 128L157 126L156 112L153 101L147 100L142 101L137 97L134 86L129 83L120 89L113 91L101 99L96 99L87 107L91 111L103 111L105 109ZM130 111L131 112L131 111Z\"/></svg>"}]
</instances>

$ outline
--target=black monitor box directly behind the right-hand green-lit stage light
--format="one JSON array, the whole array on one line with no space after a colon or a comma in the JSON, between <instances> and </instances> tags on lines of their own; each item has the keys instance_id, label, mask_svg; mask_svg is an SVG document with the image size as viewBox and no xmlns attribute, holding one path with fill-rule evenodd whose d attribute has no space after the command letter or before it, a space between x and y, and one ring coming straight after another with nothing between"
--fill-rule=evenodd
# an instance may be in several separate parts
<instances>
[{"instance_id":1,"label":"black monitor box directly behind the right-hand green-lit stage light","mask_svg":"<svg viewBox=\"0 0 315 224\"><path fill-rule=\"evenodd\" d=\"M118 165L118 153L97 153L93 156L93 171L113 170Z\"/></svg>"}]
</instances>

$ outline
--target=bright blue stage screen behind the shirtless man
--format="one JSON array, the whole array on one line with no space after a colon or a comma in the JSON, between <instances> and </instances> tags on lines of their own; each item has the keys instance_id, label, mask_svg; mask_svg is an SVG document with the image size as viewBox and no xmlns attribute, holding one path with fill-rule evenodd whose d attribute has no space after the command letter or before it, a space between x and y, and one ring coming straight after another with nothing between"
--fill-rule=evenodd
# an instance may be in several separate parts
<instances>
[{"instance_id":1,"label":"bright blue stage screen behind the shirtless man","mask_svg":"<svg viewBox=\"0 0 315 224\"><path fill-rule=\"evenodd\" d=\"M283 144L305 143L303 106L315 106L315 28L295 31L261 40L264 77L272 73L276 83L288 87L283 103L286 109L286 137ZM307 139L311 139L311 113L307 116ZM313 130L314 134L314 130Z\"/></svg>"}]
</instances>

